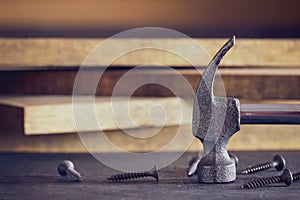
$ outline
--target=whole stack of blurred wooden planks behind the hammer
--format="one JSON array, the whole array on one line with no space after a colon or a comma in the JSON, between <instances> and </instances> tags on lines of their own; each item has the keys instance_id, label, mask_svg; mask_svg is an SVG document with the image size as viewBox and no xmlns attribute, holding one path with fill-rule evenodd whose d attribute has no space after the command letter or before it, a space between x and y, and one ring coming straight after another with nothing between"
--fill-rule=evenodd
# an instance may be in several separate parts
<instances>
[{"instance_id":1,"label":"whole stack of blurred wooden planks behind the hammer","mask_svg":"<svg viewBox=\"0 0 300 200\"><path fill-rule=\"evenodd\" d=\"M103 39L73 39L73 38L1 38L0 39L0 113L1 113L1 148L2 151L84 151L76 133L77 127L73 115L72 94L77 72L88 53ZM195 39L212 56L222 46L226 39ZM139 45L141 48L159 44L164 48L180 48L187 40L170 38L152 39L116 39L113 48ZM106 55L114 49L107 51ZM197 58L196 51L190 54ZM264 100L278 102L298 102L300 81L300 40L299 39L237 39L237 46L224 58L219 74L222 79L216 80L216 95L237 97L242 103L255 103ZM91 61L88 63L84 76L87 82L79 87L76 95L89 99L96 95L95 110L98 119L102 119L107 137L129 151L150 151L167 143L174 137L174 132L184 126L186 134L191 135L190 118L182 120L178 103L184 105L184 116L190 116L192 104L181 98L166 87L157 84L141 86L131 97L129 115L136 123L116 124L108 114L111 110L110 96L118 80L134 66L147 63L138 72L132 74L134 80L167 79L174 85L179 94L185 87L178 82L183 76L193 89L196 89L201 73L209 59L198 63L198 68L191 66L186 60L170 53L161 51L137 51L116 59L109 68L105 63ZM157 66L160 63L165 66ZM178 74L170 70L176 70ZM97 77L99 71L106 70L99 81L99 87L94 91L89 85L89 79ZM222 86L224 84L224 87ZM128 103L120 99L117 104ZM168 115L165 123L151 124L149 110L153 105L161 105ZM99 112L97 112L99 111ZM163 117L163 116L162 116ZM162 119L157 119L158 122ZM149 127L149 125L151 126ZM138 127L136 126L138 125ZM147 134L152 128L162 128L152 142L128 137L122 129L135 129L137 134ZM87 124L81 127L81 132L92 135L100 130L98 126ZM230 144L234 150L241 149L297 149L299 145L298 126L243 126ZM285 134L290 140L282 145L276 138ZM69 134L62 134L69 133ZM31 136L23 136L23 135ZM50 134L50 135L48 135ZM52 135L54 134L54 135ZM15 140L14 136L21 139ZM35 135L35 136L33 136ZM49 142L43 142L46 139ZM262 138L268 138L261 141ZM92 140L92 139L91 139ZM151 138L149 139L151 140ZM50 142L52 141L52 142ZM67 144L68 141L74 145ZM266 142L269 141L269 142ZM134 144L134 145L132 145ZM148 145L146 145L148 144ZM110 151L105 144L98 151ZM191 150L197 150L199 144L193 144ZM61 149L60 149L61 147ZM172 150L182 149L182 145Z\"/></svg>"}]
</instances>

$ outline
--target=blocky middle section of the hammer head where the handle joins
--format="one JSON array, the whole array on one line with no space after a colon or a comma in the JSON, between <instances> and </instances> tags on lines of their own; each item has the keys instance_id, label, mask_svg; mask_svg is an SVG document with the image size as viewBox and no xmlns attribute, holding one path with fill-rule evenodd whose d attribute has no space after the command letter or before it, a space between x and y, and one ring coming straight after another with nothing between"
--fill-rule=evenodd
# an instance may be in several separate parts
<instances>
[{"instance_id":1,"label":"blocky middle section of the hammer head where the handle joins","mask_svg":"<svg viewBox=\"0 0 300 200\"><path fill-rule=\"evenodd\" d=\"M193 134L201 142L229 138L240 130L240 102L236 98L216 97L207 103L197 96L193 109Z\"/></svg>"}]
</instances>

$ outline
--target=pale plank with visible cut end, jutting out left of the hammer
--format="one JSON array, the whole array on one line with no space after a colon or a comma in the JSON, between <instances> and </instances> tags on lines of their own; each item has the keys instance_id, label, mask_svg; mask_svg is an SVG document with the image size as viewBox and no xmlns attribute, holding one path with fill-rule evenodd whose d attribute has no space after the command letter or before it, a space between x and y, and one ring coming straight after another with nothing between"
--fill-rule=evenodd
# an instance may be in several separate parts
<instances>
[{"instance_id":1,"label":"pale plank with visible cut end, jutting out left of the hammer","mask_svg":"<svg viewBox=\"0 0 300 200\"><path fill-rule=\"evenodd\" d=\"M124 97L118 97L114 99L113 103L108 97L97 97L95 99L95 115L99 124L93 123L93 119L90 119L78 126L75 122L73 107L80 106L80 109L88 109L88 106L91 105L89 103L91 101L87 100L90 99L88 96L78 98L80 98L80 102L76 101L73 104L72 96L3 96L0 98L0 103L3 105L3 109L7 106L22 110L23 115L13 120L23 122L23 124L21 123L24 126L22 128L28 135L77 132L77 129L79 131L97 131L100 130L100 126L101 130L129 129L141 126L174 126L188 122L189 117L181 119L182 116L191 116L191 105L175 97L130 98L129 102ZM155 109L155 106L161 106L164 110L157 110L160 108ZM120 108L127 107L129 113L126 113L126 110L116 113ZM156 113L155 119L149 116L149 112ZM13 114L14 112L12 112ZM116 118L116 115L119 118ZM10 120L10 115L6 116L6 119Z\"/></svg>"}]
</instances>

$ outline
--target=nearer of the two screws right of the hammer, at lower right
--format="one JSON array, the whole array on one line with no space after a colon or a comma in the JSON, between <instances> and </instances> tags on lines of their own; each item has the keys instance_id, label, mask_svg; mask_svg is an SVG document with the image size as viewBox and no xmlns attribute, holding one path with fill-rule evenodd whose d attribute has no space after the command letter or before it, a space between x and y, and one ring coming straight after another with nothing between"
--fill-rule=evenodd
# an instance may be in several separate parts
<instances>
[{"instance_id":1,"label":"nearer of the two screws right of the hammer, at lower right","mask_svg":"<svg viewBox=\"0 0 300 200\"><path fill-rule=\"evenodd\" d=\"M241 186L241 188L254 189L275 183L285 183L290 186L293 183L293 174L289 169L285 169L280 176L272 176L249 181Z\"/></svg>"}]
</instances>

